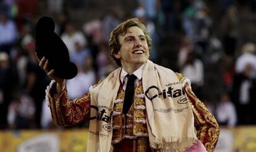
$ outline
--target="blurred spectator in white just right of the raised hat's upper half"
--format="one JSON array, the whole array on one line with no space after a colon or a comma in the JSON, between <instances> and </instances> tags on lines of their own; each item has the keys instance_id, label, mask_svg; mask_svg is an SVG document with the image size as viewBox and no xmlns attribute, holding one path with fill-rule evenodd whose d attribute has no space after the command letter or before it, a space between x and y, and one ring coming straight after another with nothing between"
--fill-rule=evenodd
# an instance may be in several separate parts
<instances>
[{"instance_id":1,"label":"blurred spectator in white just right of the raised hat's upper half","mask_svg":"<svg viewBox=\"0 0 256 152\"><path fill-rule=\"evenodd\" d=\"M69 55L75 52L75 43L79 42L82 47L85 47L87 40L82 31L75 30L73 23L67 22L64 28L64 32L61 34L62 41L66 44L69 50Z\"/></svg>"}]
</instances>

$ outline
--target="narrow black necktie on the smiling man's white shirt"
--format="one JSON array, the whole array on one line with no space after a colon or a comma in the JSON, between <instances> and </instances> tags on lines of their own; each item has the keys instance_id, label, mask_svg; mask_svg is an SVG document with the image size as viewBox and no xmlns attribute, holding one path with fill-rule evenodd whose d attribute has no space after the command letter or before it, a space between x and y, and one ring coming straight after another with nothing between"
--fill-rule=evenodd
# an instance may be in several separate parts
<instances>
[{"instance_id":1,"label":"narrow black necktie on the smiling man's white shirt","mask_svg":"<svg viewBox=\"0 0 256 152\"><path fill-rule=\"evenodd\" d=\"M129 75L129 74L127 74ZM134 74L128 76L128 81L126 84L126 91L124 93L124 106L122 107L122 111L124 114L128 112L132 102L134 100L134 81L137 77Z\"/></svg>"}]
</instances>

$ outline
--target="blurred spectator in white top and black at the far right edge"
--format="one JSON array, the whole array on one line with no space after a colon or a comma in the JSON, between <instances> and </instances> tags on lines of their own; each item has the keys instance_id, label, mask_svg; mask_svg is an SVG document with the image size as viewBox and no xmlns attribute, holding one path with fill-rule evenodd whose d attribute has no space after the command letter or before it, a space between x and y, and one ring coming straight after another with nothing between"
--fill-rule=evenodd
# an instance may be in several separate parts
<instances>
[{"instance_id":1,"label":"blurred spectator in white top and black at the far right edge","mask_svg":"<svg viewBox=\"0 0 256 152\"><path fill-rule=\"evenodd\" d=\"M256 124L256 56L255 44L245 43L236 60L233 100L236 104L238 124Z\"/></svg>"}]
</instances>

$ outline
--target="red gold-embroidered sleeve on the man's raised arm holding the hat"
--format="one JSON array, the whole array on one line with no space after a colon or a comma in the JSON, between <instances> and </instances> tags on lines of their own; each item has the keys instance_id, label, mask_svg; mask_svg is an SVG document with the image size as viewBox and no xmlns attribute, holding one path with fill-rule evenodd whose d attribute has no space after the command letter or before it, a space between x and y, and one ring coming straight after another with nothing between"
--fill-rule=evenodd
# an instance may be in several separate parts
<instances>
[{"instance_id":1,"label":"red gold-embroidered sleeve on the man's raised arm holding the hat","mask_svg":"<svg viewBox=\"0 0 256 152\"><path fill-rule=\"evenodd\" d=\"M90 118L90 94L69 100L67 89L59 97L54 97L56 84L53 84L48 94L49 108L53 122L58 126L72 126Z\"/></svg>"}]
</instances>

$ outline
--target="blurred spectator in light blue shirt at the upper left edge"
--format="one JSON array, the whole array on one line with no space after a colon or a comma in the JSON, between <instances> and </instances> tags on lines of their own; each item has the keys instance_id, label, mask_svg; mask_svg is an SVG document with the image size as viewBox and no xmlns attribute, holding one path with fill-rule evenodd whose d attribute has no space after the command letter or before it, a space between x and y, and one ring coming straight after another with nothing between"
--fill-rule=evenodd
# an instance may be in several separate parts
<instances>
[{"instance_id":1,"label":"blurred spectator in light blue shirt at the upper left edge","mask_svg":"<svg viewBox=\"0 0 256 152\"><path fill-rule=\"evenodd\" d=\"M7 17L7 14L0 12L0 51L10 54L12 47L17 41L18 31L15 23Z\"/></svg>"}]
</instances>

